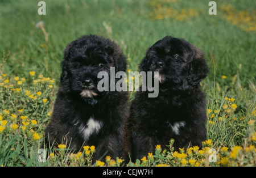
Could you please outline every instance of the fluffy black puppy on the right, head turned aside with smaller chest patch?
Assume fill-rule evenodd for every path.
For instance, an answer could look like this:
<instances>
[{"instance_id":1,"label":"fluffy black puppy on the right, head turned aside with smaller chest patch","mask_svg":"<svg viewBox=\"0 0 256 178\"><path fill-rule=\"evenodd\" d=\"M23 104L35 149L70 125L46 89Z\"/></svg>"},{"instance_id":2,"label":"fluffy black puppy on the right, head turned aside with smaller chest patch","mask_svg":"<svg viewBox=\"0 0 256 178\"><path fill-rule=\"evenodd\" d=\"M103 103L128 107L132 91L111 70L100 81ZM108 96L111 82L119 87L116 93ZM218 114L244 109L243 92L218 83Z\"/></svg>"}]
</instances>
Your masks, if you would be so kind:
<instances>
[{"instance_id":1,"label":"fluffy black puppy on the right, head turned aside with smaller chest patch","mask_svg":"<svg viewBox=\"0 0 256 178\"><path fill-rule=\"evenodd\" d=\"M125 150L141 159L175 139L175 150L200 146L207 138L205 94L200 81L207 76L203 52L187 41L167 36L148 48L141 71L159 71L159 95L139 91L130 107ZM154 73L153 73L154 74Z\"/></svg>"}]
</instances>

